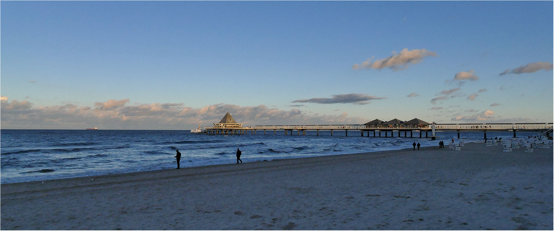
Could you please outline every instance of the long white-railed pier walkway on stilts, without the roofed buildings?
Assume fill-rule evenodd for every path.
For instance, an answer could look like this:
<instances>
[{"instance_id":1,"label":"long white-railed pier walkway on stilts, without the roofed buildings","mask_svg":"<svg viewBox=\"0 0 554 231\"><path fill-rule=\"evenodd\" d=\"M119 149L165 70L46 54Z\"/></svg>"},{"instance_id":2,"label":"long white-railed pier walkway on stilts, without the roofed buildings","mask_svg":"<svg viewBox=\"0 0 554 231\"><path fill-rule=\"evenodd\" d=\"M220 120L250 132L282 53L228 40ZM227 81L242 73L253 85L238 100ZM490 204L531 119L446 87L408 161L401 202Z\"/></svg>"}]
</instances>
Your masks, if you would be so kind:
<instances>
[{"instance_id":1,"label":"long white-railed pier walkway on stilts, without the roofed buildings","mask_svg":"<svg viewBox=\"0 0 554 231\"><path fill-rule=\"evenodd\" d=\"M333 130L344 130L346 136L348 136L348 130L358 130L361 136L363 133L367 133L367 137L370 136L370 132L373 132L373 137L381 137L384 132L384 137L401 137L401 133L404 132L404 137L413 137L413 133L419 135L422 138L422 134L425 133L425 138L435 137L436 131L457 131L458 138L460 138L460 132L463 131L483 131L484 137L486 132L542 132L548 136L552 132L552 123L471 123L471 124L428 124L428 125L363 125L363 124L343 124L343 125L255 125L254 127L242 127L242 128L215 128L204 127L207 134L257 134L258 130L263 130L263 134L266 134L266 130L273 130L273 134L277 134L277 130L284 131L285 135L293 134L296 130L297 135L306 135L306 130L315 130L319 135L320 130L330 130L333 135ZM261 132L261 131L260 131ZM429 132L431 135L429 136ZM419 134L417 134L419 133Z\"/></svg>"}]
</instances>

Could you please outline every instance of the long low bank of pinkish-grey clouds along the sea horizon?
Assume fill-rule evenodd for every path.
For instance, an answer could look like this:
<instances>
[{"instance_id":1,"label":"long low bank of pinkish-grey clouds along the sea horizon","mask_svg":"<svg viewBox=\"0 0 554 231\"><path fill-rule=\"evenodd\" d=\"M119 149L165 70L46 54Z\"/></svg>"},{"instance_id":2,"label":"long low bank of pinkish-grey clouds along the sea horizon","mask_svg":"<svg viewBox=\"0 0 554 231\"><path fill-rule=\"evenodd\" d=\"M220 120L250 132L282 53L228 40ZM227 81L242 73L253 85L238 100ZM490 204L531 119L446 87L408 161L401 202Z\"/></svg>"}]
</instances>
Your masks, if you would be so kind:
<instances>
[{"instance_id":1,"label":"long low bank of pinkish-grey clouds along the sea horizon","mask_svg":"<svg viewBox=\"0 0 554 231\"><path fill-rule=\"evenodd\" d=\"M8 102L0 97L2 128L19 129L191 129L198 124L217 123L229 112L239 123L263 124L362 124L367 119L317 114L291 109L289 111L259 106L212 104L202 108L186 107L182 103L152 103L125 106L129 99L95 102L95 108L74 104L35 107L28 101Z\"/></svg>"}]
</instances>

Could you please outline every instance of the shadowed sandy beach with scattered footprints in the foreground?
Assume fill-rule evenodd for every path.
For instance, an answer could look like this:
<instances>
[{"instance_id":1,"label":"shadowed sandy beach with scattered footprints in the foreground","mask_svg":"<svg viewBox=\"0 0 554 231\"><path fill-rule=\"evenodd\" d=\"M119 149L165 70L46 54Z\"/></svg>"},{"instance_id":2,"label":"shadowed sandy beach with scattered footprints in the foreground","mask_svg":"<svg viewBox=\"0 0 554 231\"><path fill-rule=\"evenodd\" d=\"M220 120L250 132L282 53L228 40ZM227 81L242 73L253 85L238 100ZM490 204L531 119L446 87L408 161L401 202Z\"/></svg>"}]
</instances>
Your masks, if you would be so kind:
<instances>
[{"instance_id":1,"label":"shadowed sandy beach with scattered footprints in the foreground","mask_svg":"<svg viewBox=\"0 0 554 231\"><path fill-rule=\"evenodd\" d=\"M470 143L9 183L0 228L552 230L553 150Z\"/></svg>"}]
</instances>

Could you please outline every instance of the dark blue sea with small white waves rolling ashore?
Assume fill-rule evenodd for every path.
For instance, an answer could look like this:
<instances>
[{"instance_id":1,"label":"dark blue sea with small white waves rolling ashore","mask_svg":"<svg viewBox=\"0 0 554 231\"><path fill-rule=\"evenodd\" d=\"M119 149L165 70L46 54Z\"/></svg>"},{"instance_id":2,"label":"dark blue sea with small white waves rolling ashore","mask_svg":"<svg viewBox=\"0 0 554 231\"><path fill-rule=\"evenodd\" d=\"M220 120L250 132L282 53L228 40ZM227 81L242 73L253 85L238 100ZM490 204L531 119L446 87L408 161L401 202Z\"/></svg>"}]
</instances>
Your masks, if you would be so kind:
<instances>
[{"instance_id":1,"label":"dark blue sea with small white waves rolling ashore","mask_svg":"<svg viewBox=\"0 0 554 231\"><path fill-rule=\"evenodd\" d=\"M243 162L310 156L365 153L412 148L412 143L438 146L440 140L458 140L456 132L437 132L439 138L361 137L359 130L308 130L306 135L284 134L278 130L258 130L258 134L208 135L189 130L0 130L0 183L53 180L78 176L98 176L177 167L176 150L181 152L181 167L235 164L236 151ZM397 133L394 133L398 136ZM430 135L430 133L429 133ZM518 137L540 135L518 132ZM488 132L489 138L511 138L512 132ZM460 132L466 143L484 141L483 132Z\"/></svg>"}]
</instances>

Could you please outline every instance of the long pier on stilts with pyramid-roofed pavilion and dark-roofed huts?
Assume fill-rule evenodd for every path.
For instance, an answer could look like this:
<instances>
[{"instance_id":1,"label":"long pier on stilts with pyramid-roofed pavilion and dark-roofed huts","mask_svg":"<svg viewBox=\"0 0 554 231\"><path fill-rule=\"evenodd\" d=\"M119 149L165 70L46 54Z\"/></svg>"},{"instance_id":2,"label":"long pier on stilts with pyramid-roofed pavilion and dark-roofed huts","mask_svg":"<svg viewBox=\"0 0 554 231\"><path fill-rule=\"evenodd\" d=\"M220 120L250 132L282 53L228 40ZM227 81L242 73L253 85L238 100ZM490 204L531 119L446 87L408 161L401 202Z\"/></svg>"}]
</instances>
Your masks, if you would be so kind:
<instances>
[{"instance_id":1,"label":"long pier on stilts with pyramid-roofed pavilion and dark-roofed huts","mask_svg":"<svg viewBox=\"0 0 554 231\"><path fill-rule=\"evenodd\" d=\"M541 132L545 133L547 137L552 133L553 123L464 123L464 124L438 124L427 123L423 120L414 118L412 120L403 122L402 120L392 119L387 122L375 119L366 124L340 124L340 125L255 125L254 127L242 127L242 124L235 122L233 117L229 113L225 114L222 120L213 124L213 127L204 127L206 134L217 135L239 135L239 134L258 134L263 131L271 132L276 135L279 130L281 134L293 135L296 131L296 135L306 135L307 130L315 130L316 135L319 135L320 130L329 130L333 135L334 130L345 131L345 136L348 136L348 130L357 132L363 137L364 133L367 137L416 137L431 138L434 140L437 135L435 132L458 132L458 138L460 138L460 132L476 132L482 131L484 138L486 138L486 132L514 132L514 138L517 132ZM409 136L408 136L409 135Z\"/></svg>"}]
</instances>

